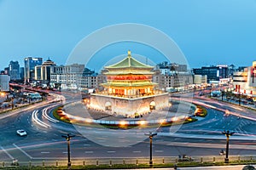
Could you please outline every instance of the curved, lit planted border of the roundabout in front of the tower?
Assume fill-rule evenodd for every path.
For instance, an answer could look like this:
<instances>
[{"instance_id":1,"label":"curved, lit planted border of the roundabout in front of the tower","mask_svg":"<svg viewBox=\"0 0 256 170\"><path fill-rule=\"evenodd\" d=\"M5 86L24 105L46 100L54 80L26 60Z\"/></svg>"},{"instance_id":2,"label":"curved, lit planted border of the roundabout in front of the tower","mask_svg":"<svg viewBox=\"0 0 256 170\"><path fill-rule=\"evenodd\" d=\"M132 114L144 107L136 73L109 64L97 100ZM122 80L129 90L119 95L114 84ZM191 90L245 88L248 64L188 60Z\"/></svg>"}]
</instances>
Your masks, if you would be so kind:
<instances>
[{"instance_id":1,"label":"curved, lit planted border of the roundabout in front of the tower","mask_svg":"<svg viewBox=\"0 0 256 170\"><path fill-rule=\"evenodd\" d=\"M104 119L99 117L101 115ZM170 118L150 119L137 117L133 119L124 119L122 117L111 116L107 113L92 111L90 117L73 116L63 109L63 105L53 111L55 119L61 122L67 122L86 127L107 127L110 129L131 129L131 128L148 128L148 127L170 127L183 123L195 122L197 119L191 116L174 116ZM96 117L93 119L92 117Z\"/></svg>"}]
</instances>

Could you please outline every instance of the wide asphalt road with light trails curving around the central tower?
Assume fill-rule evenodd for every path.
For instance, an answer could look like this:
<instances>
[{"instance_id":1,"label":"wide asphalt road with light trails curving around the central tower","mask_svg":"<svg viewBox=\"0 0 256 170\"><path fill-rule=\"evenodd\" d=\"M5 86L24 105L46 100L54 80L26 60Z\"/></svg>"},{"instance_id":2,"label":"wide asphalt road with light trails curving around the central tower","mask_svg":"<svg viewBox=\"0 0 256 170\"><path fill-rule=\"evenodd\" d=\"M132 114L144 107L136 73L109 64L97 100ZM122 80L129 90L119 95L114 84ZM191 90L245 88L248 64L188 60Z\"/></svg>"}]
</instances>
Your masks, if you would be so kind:
<instances>
[{"instance_id":1,"label":"wide asphalt road with light trails curving around the central tower","mask_svg":"<svg viewBox=\"0 0 256 170\"><path fill-rule=\"evenodd\" d=\"M73 96L67 96L67 102L75 100L77 99ZM195 99L195 101L224 109L224 111L229 110L232 114L224 116L223 111L207 107L207 117L197 122L183 124L177 133L170 134L170 127L158 129L158 135L153 139L153 156L218 156L219 150L225 148L225 137L221 134L224 129L236 133L230 137L230 155L255 153L256 143L253 129L256 123L253 120L253 111L211 99ZM136 138L132 139L129 136L119 136L113 139L110 135L115 132L113 129L106 131L106 128L80 127L80 130L88 133L86 135L96 134L96 140L103 143L115 141L118 145L118 143L124 143L125 140L135 141L135 144L125 147L109 147L108 144L102 146L88 139L89 136L82 135L80 130L78 132L78 127L52 120L52 110L56 105L60 104L36 106L1 119L1 161L10 161L14 158L19 161L66 160L67 143L61 138L61 135L66 133L76 135L71 139L73 159L149 156L149 141L143 135L145 132L138 133ZM239 118L237 114L240 115ZM15 131L20 128L26 129L28 133L26 137L16 135Z\"/></svg>"}]
</instances>

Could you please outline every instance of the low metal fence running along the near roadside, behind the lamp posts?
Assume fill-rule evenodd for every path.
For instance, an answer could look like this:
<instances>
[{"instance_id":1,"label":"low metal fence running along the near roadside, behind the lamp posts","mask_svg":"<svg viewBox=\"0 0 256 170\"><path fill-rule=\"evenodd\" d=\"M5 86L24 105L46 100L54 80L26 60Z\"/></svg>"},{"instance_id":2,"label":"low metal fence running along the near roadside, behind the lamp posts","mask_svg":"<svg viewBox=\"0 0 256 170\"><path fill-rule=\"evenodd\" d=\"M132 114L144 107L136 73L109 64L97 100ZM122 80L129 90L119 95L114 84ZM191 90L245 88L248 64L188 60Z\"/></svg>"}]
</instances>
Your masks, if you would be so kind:
<instances>
[{"instance_id":1,"label":"low metal fence running along the near roadside, behind the lamp posts","mask_svg":"<svg viewBox=\"0 0 256 170\"><path fill-rule=\"evenodd\" d=\"M224 162L225 156L191 156L185 157L185 159L179 159L178 157L154 157L154 164L167 164L167 163L177 163L181 161L191 161L191 162ZM256 155L243 155L243 156L229 156L230 161L256 161ZM138 158L84 158L84 159L72 159L73 166L100 166L100 165L139 165L148 164L148 157L138 157ZM67 166L67 160L44 160L44 161L18 161L18 164L14 165L12 161L0 161L0 167L10 167L10 166L26 166L26 167L58 167Z\"/></svg>"}]
</instances>

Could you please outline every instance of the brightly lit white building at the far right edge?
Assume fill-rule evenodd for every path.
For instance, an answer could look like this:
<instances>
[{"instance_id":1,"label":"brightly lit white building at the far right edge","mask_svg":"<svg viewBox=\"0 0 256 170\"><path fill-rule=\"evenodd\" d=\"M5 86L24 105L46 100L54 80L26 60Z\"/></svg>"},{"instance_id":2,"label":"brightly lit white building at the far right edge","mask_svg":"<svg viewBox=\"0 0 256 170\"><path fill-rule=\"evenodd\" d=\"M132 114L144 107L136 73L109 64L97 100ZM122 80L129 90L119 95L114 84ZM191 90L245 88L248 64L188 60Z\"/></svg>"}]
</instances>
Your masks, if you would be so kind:
<instances>
[{"instance_id":1,"label":"brightly lit white building at the far right edge","mask_svg":"<svg viewBox=\"0 0 256 170\"><path fill-rule=\"evenodd\" d=\"M256 97L256 61L249 67L240 67L232 78L235 94Z\"/></svg>"}]
</instances>

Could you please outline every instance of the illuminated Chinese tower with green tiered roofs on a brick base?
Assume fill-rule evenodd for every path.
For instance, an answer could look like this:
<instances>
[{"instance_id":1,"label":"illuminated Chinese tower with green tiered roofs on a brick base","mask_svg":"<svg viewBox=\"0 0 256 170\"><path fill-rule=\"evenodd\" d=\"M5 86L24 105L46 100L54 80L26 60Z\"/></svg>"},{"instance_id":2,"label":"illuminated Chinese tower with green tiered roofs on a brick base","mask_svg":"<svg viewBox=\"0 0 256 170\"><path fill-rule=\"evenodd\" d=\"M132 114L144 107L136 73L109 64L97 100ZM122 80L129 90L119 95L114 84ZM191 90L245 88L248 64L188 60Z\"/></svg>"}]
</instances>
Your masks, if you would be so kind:
<instances>
[{"instance_id":1,"label":"illuminated Chinese tower with green tiered roofs on a brick base","mask_svg":"<svg viewBox=\"0 0 256 170\"><path fill-rule=\"evenodd\" d=\"M102 91L91 94L87 106L92 110L131 117L167 107L168 94L156 90L157 83L152 82L153 68L132 58L128 51L125 59L105 67L107 71L103 74L107 82L101 84Z\"/></svg>"}]
</instances>

